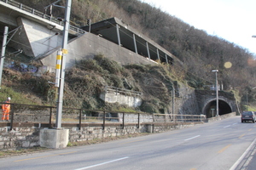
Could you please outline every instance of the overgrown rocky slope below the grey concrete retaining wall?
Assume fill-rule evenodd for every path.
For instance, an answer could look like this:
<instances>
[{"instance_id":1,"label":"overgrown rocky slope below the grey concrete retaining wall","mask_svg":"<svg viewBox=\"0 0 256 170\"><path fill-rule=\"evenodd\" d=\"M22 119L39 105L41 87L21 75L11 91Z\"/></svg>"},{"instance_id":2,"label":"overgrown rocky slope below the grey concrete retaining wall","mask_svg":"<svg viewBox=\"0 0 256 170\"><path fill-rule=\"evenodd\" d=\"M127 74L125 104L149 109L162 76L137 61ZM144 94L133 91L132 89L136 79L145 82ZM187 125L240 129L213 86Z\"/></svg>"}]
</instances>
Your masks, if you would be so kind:
<instances>
[{"instance_id":1,"label":"overgrown rocky slope below the grey concrete retaining wall","mask_svg":"<svg viewBox=\"0 0 256 170\"><path fill-rule=\"evenodd\" d=\"M169 69L167 65L122 66L102 55L82 60L79 65L67 71L63 105L108 111L163 113L172 101L170 94L176 83L175 75ZM3 85L6 88L2 89L1 95L10 95L15 103L55 105L55 88L49 83L54 79L55 74L46 73L42 77L34 77L31 73L4 69ZM142 92L143 105L129 108L119 104L105 104L100 94L107 85ZM9 88L14 91L8 91Z\"/></svg>"}]
</instances>

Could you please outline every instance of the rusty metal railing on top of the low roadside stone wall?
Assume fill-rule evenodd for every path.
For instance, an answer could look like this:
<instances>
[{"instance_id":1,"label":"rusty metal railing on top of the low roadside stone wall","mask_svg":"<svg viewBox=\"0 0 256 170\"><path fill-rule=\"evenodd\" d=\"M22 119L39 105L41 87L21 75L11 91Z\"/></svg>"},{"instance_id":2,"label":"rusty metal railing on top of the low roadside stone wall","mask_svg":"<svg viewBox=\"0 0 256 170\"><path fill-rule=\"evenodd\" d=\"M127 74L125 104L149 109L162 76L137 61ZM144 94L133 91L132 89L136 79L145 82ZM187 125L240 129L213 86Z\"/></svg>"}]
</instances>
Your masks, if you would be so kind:
<instances>
[{"instance_id":1,"label":"rusty metal railing on top of the low roadside stone wall","mask_svg":"<svg viewBox=\"0 0 256 170\"><path fill-rule=\"evenodd\" d=\"M3 105L4 103L0 103ZM44 127L55 127L56 123L56 107L45 105L23 105L10 103L11 111L9 116L10 130L20 126L20 123L32 122L40 123ZM137 124L137 128L141 123L154 122L206 122L204 115L174 115L174 114L151 114L145 112L121 112L121 111L102 111L102 110L86 110L77 108L62 108L61 123L77 124L81 129L83 124L101 124L102 129L106 124L111 123L120 127L125 124Z\"/></svg>"}]
</instances>

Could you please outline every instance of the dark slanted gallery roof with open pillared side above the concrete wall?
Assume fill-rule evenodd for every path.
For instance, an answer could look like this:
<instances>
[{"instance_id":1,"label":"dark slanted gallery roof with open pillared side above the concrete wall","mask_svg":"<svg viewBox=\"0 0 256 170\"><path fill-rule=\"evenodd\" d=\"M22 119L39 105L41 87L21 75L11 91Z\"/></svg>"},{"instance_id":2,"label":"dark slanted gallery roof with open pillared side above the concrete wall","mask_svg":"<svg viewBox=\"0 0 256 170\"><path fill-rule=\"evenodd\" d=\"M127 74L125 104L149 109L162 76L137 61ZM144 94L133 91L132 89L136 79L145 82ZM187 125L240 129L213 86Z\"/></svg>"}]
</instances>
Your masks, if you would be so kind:
<instances>
[{"instance_id":1,"label":"dark slanted gallery roof with open pillared side above the concrete wall","mask_svg":"<svg viewBox=\"0 0 256 170\"><path fill-rule=\"evenodd\" d=\"M174 62L174 55L118 18L113 17L108 20L102 20L91 24L90 26L84 26L82 29L108 39L110 42L117 43L120 46L128 48L135 53L137 52L137 54L148 57L149 59L157 60L159 53L161 62L166 62L166 59L169 64Z\"/></svg>"}]
</instances>

